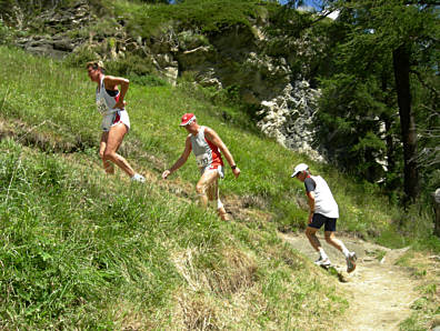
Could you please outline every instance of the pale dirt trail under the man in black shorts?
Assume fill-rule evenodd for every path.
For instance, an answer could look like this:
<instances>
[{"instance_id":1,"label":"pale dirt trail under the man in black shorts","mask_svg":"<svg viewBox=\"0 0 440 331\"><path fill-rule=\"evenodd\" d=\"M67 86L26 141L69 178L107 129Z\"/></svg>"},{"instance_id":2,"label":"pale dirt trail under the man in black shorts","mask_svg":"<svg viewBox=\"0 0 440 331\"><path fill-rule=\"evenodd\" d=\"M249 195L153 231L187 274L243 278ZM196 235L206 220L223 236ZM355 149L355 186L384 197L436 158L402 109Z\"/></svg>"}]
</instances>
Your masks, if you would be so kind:
<instances>
[{"instance_id":1,"label":"pale dirt trail under the man in black shorts","mask_svg":"<svg viewBox=\"0 0 440 331\"><path fill-rule=\"evenodd\" d=\"M318 258L306 235L280 237L310 260ZM406 249L391 250L338 235L358 255L357 269L348 274L342 253L321 238L321 244L342 278L341 287L349 293L350 308L337 330L399 330L399 323L410 315L410 305L418 298L416 280L404 268L394 265Z\"/></svg>"}]
</instances>

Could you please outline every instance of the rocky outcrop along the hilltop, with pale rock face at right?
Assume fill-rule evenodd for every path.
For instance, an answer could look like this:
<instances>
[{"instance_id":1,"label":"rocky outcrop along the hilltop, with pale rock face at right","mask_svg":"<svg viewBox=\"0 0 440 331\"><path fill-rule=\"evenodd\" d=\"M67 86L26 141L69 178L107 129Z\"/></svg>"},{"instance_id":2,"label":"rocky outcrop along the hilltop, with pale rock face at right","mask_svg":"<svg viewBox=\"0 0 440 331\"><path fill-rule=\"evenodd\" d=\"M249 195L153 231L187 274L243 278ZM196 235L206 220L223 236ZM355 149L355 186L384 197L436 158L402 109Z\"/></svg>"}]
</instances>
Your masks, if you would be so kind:
<instances>
[{"instance_id":1,"label":"rocky outcrop along the hilltop, with pale rock face at right","mask_svg":"<svg viewBox=\"0 0 440 331\"><path fill-rule=\"evenodd\" d=\"M319 91L302 78L310 71L308 61L302 61L300 69L292 64L297 58L313 58L311 47L317 47L316 41L309 38L288 41L281 36L283 57L268 52L273 39L266 37L264 21L254 20L252 27L232 26L210 34L197 29L179 31L169 23L160 33L143 39L130 34L122 20L112 18L106 18L110 28L94 32L93 24L99 22L88 1L63 10L50 8L27 22L26 29L40 28L42 33L28 33L17 44L54 58L128 59L130 64L136 60L141 63L134 68L136 73L153 72L172 84L178 77L190 74L206 87L238 86L241 99L260 109L258 127L262 132L288 149L322 160L311 143ZM83 29L87 26L89 29ZM144 72L139 72L141 67Z\"/></svg>"}]
</instances>

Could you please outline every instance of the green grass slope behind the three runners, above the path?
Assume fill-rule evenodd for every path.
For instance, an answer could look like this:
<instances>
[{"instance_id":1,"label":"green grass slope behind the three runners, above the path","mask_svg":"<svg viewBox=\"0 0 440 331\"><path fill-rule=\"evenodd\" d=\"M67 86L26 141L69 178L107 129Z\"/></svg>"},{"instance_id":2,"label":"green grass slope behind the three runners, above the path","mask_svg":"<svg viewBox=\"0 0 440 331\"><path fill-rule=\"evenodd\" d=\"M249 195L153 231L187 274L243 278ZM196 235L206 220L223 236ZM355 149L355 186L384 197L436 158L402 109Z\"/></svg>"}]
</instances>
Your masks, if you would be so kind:
<instances>
[{"instance_id":1,"label":"green grass slope behind the three runners, above the path","mask_svg":"<svg viewBox=\"0 0 440 331\"><path fill-rule=\"evenodd\" d=\"M0 59L3 63L0 89L6 91L0 107L4 118L26 122L27 130L38 127L36 131L51 141L48 144L58 143L61 150L91 151L97 148L100 116L93 104L96 84L90 82L86 70L7 48L0 48ZM220 134L242 170L240 179L233 180L227 167L227 180L221 183L222 194L263 201L257 207L272 212L280 229L303 228L307 219L307 209L301 207L304 204L301 203L303 185L291 179L290 173L294 164L307 162L313 173L320 173L328 180L339 202L340 230L363 237L396 233L392 227L403 215L374 185L357 183L307 156L288 151L273 140L256 134L254 130L237 120L239 112L231 111L229 106L213 106L209 97L203 96L188 83L178 88L131 84L127 101L132 129L122 153L130 151L128 157L134 167L150 169L160 178L160 172L170 167L183 150L187 133L178 124L181 114L191 111L197 114L199 123L213 128ZM224 117L224 113L232 113L232 117ZM152 159L156 160L153 164ZM198 171L193 157L188 163L174 179L196 182ZM410 223L419 224L416 229L429 228L427 215L412 214ZM407 232L408 238L413 234L413 231ZM400 234L393 237L397 239Z\"/></svg>"}]
</instances>

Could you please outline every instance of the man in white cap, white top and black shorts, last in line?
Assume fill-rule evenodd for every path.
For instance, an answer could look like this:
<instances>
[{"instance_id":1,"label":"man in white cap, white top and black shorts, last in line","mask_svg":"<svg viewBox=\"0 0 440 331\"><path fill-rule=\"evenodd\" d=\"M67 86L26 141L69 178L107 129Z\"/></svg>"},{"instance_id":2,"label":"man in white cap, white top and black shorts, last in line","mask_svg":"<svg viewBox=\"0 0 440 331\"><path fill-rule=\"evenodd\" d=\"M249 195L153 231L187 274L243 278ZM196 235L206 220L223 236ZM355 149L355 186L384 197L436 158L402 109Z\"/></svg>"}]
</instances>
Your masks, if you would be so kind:
<instances>
[{"instance_id":1,"label":"man in white cap, white top and black shorts, last in line","mask_svg":"<svg viewBox=\"0 0 440 331\"><path fill-rule=\"evenodd\" d=\"M347 272L352 272L356 269L356 252L350 252L343 242L334 235L336 223L339 218L339 208L326 180L320 175L312 175L309 165L304 163L294 167L292 177L303 182L306 187L306 194L310 207L309 224L306 229L306 235L311 245L319 253L319 259L314 263L323 267L329 267L331 264L330 259L327 257L316 234L324 224L326 241L344 254Z\"/></svg>"}]
</instances>

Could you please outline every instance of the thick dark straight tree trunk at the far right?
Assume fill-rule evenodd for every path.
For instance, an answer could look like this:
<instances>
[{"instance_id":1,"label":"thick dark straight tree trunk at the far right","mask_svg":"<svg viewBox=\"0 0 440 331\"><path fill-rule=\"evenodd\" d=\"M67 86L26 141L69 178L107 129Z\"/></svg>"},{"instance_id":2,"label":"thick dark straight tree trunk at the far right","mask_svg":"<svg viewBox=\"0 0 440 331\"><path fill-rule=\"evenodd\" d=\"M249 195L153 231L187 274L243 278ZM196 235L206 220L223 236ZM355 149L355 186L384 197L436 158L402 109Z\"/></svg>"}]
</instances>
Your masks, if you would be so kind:
<instances>
[{"instance_id":1,"label":"thick dark straight tree trunk at the far right","mask_svg":"<svg viewBox=\"0 0 440 331\"><path fill-rule=\"evenodd\" d=\"M404 203L413 202L419 195L419 174L417 171L417 132L411 110L410 51L403 44L392 52L400 128L403 142L403 187Z\"/></svg>"}]
</instances>

